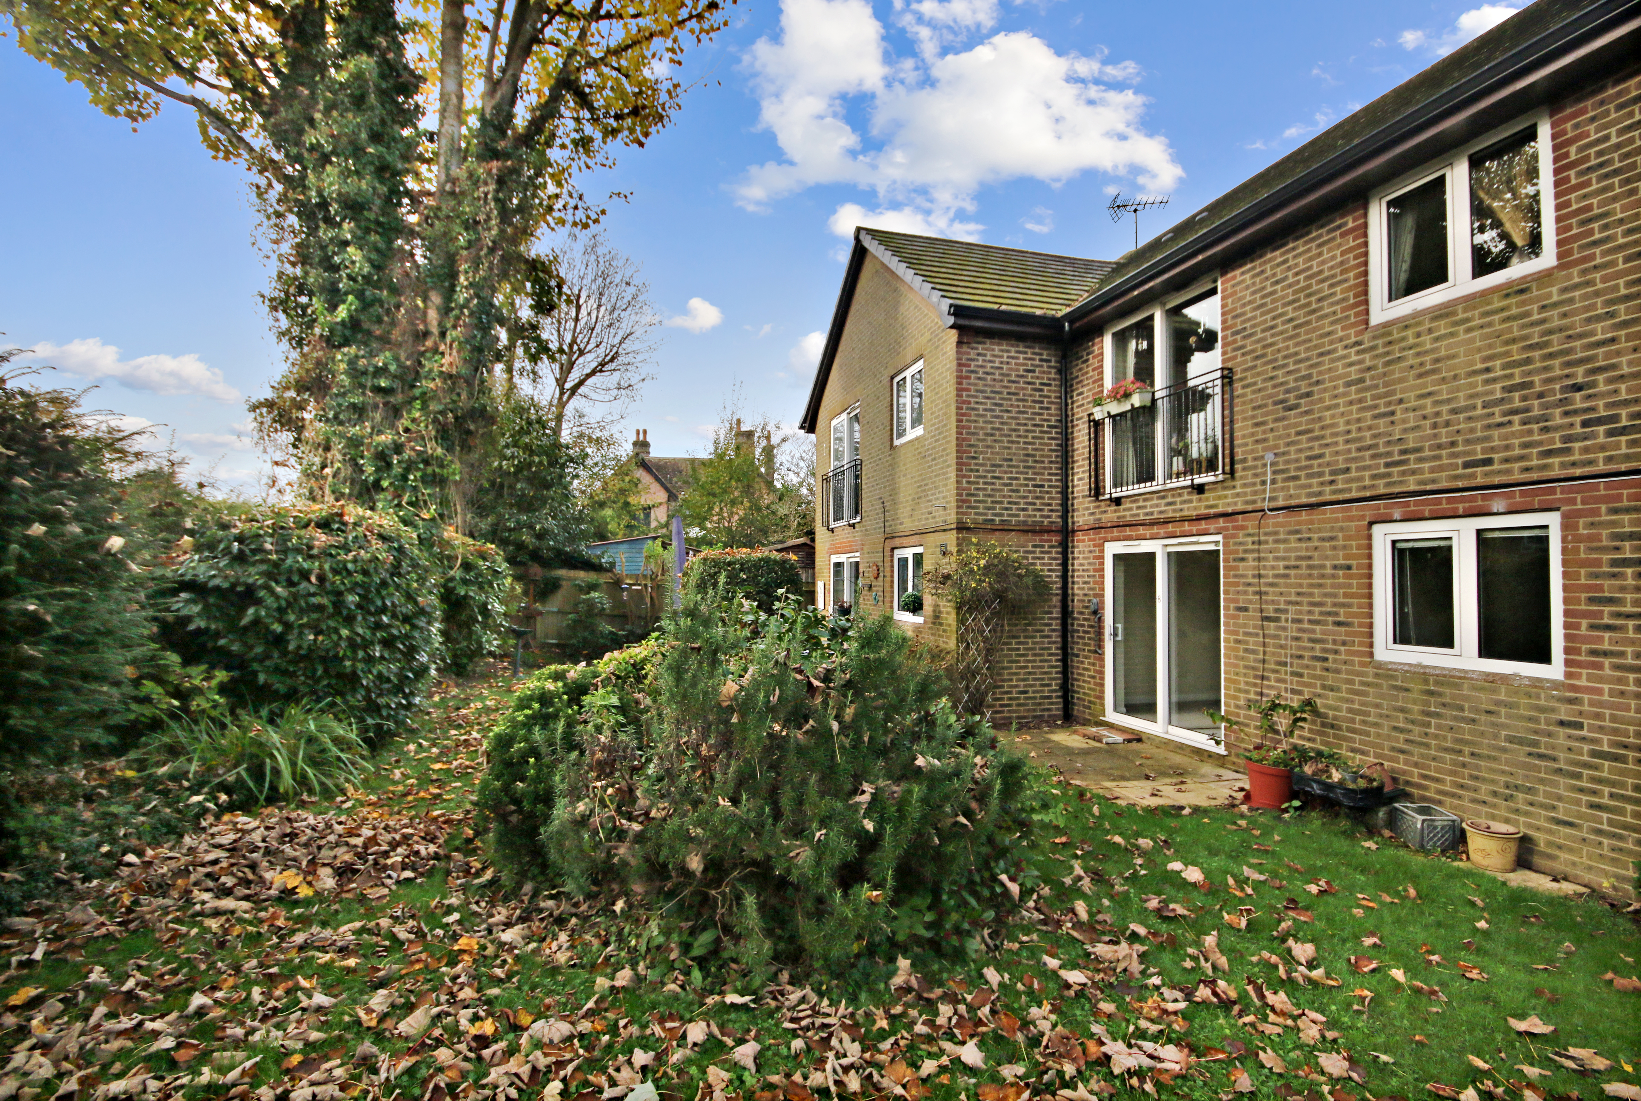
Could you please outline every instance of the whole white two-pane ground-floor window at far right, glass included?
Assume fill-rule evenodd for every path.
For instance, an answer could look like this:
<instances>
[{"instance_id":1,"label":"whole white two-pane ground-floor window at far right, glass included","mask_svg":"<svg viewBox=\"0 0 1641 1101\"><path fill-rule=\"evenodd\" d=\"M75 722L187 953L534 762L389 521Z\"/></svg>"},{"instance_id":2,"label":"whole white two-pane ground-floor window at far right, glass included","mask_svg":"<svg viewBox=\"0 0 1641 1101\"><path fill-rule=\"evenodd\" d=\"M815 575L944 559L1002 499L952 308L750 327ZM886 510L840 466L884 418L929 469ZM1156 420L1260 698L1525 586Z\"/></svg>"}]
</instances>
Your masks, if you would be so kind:
<instances>
[{"instance_id":1,"label":"whole white two-pane ground-floor window at far right, glass included","mask_svg":"<svg viewBox=\"0 0 1641 1101\"><path fill-rule=\"evenodd\" d=\"M1561 515L1374 525L1374 656L1561 679Z\"/></svg>"}]
</instances>

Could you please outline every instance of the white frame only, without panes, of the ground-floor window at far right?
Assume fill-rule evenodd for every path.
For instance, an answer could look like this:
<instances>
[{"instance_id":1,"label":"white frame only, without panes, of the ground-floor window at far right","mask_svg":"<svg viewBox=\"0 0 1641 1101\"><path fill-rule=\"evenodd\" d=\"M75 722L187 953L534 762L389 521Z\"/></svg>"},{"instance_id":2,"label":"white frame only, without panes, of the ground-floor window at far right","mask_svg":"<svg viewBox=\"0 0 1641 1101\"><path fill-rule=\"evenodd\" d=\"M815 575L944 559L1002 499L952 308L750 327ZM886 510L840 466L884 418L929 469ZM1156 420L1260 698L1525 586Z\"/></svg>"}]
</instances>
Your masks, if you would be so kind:
<instances>
[{"instance_id":1,"label":"white frame only, without panes, of the ground-floor window at far right","mask_svg":"<svg viewBox=\"0 0 1641 1101\"><path fill-rule=\"evenodd\" d=\"M1498 661L1482 658L1480 609L1477 607L1475 540L1482 528L1547 527L1549 528L1549 665L1529 661ZM1408 646L1395 643L1395 601L1392 599L1393 538L1408 535L1454 537L1454 640L1452 650ZM1500 512L1479 517L1447 517L1441 520L1401 520L1374 525L1374 658L1403 665L1433 665L1447 669L1477 673L1508 673L1566 679L1566 620L1561 576L1561 514L1559 512Z\"/></svg>"}]
</instances>

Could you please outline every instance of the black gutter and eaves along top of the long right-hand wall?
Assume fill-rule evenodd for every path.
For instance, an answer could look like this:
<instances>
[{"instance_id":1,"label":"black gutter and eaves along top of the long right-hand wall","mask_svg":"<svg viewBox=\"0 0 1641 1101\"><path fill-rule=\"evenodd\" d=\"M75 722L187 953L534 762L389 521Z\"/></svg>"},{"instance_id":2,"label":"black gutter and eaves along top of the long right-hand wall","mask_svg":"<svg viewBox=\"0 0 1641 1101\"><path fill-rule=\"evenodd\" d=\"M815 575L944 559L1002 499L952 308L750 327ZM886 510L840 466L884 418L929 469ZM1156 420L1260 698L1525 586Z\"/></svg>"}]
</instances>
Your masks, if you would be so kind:
<instances>
[{"instance_id":1,"label":"black gutter and eaves along top of the long right-hand wall","mask_svg":"<svg viewBox=\"0 0 1641 1101\"><path fill-rule=\"evenodd\" d=\"M1099 320L1114 304L1134 295L1139 289L1163 281L1178 269L1190 269L1185 276L1195 277L1201 271L1213 267L1218 258L1209 254L1223 251L1221 246L1229 240L1244 238L1241 244L1247 246L1249 241L1246 238L1255 233L1265 236L1267 231L1282 228L1287 222L1280 220L1280 215L1287 208L1296 207L1308 195L1319 192L1323 185L1339 180L1364 162L1380 162L1400 146L1416 143L1421 131L1446 121L1447 115L1459 105L1470 103L1475 108L1482 108L1497 98L1490 98L1490 92L1493 90L1526 90L1538 85L1543 82L1543 77L1534 74L1534 71L1566 71L1587 61L1592 54L1616 54L1621 57L1628 46L1625 39L1633 39L1641 31L1638 10L1641 10L1641 0L1610 0L1607 3L1593 3L1572 18L1546 28L1546 31L1521 43L1498 61L1447 85L1423 103L1396 115L1378 130L1352 141L1311 169L1226 213L1201 231L1183 238L1173 248L1159 253L1126 272L1121 271L1122 263L1119 261L1118 279L1095 287L1093 294L1063 315L1065 320L1073 327ZM1579 48L1580 41L1588 44L1590 49ZM1167 240L1177 230L1178 226L1173 226L1160 240ZM1191 261L1201 263L1191 264Z\"/></svg>"}]
</instances>

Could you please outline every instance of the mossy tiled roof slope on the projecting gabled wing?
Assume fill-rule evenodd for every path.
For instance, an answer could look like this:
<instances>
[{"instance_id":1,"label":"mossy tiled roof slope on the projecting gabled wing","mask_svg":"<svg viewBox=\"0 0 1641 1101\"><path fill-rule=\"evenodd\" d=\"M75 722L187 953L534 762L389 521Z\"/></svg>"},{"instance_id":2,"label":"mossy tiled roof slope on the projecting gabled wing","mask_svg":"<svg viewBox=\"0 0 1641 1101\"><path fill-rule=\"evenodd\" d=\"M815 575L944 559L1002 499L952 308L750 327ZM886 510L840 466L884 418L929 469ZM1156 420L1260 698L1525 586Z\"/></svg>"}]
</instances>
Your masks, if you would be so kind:
<instances>
[{"instance_id":1,"label":"mossy tiled roof slope on the projecting gabled wing","mask_svg":"<svg viewBox=\"0 0 1641 1101\"><path fill-rule=\"evenodd\" d=\"M1111 261L1032 253L940 236L857 231L860 243L937 308L945 304L1058 317L1093 290ZM940 308L944 317L950 312Z\"/></svg>"}]
</instances>

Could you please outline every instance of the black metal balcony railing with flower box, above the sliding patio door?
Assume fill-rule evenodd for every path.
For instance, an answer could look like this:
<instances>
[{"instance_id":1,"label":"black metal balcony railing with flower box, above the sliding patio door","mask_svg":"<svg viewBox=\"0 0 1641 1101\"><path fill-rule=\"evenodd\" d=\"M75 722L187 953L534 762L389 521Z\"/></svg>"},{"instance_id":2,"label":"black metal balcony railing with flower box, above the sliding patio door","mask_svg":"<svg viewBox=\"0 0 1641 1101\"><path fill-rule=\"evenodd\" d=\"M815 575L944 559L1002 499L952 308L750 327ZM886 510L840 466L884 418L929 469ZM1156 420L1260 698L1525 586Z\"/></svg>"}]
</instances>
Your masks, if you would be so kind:
<instances>
[{"instance_id":1,"label":"black metal balcony railing with flower box, above the sliding patio door","mask_svg":"<svg viewBox=\"0 0 1641 1101\"><path fill-rule=\"evenodd\" d=\"M1150 405L1088 417L1088 496L1195 486L1231 474L1231 372L1155 391Z\"/></svg>"}]
</instances>

